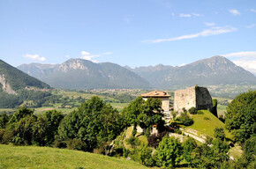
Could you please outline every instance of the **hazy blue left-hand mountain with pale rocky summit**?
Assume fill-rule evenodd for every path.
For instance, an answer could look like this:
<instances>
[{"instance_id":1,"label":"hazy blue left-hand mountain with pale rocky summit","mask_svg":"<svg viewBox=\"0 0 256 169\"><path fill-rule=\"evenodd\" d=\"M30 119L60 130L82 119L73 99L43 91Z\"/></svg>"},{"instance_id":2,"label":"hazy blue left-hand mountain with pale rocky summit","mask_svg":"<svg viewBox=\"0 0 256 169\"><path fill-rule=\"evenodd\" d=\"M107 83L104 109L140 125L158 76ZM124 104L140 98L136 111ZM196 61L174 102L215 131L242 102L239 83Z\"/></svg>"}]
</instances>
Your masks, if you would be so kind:
<instances>
[{"instance_id":1,"label":"hazy blue left-hand mountain with pale rocky summit","mask_svg":"<svg viewBox=\"0 0 256 169\"><path fill-rule=\"evenodd\" d=\"M22 64L19 70L56 88L150 88L150 84L131 70L111 62L94 63L70 59L62 64Z\"/></svg>"}]
</instances>

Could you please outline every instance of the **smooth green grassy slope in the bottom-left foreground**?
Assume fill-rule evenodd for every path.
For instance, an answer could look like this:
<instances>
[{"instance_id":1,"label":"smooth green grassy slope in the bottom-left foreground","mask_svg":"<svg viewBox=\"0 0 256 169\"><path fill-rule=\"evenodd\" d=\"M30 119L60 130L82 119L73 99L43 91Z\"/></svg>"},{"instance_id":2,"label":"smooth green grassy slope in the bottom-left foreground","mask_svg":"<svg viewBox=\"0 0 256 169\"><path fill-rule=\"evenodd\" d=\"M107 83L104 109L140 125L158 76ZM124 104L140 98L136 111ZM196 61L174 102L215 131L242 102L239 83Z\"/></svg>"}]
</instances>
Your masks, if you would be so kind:
<instances>
[{"instance_id":1,"label":"smooth green grassy slope in the bottom-left foreground","mask_svg":"<svg viewBox=\"0 0 256 169\"><path fill-rule=\"evenodd\" d=\"M147 168L124 158L83 151L0 144L0 168Z\"/></svg>"}]
</instances>

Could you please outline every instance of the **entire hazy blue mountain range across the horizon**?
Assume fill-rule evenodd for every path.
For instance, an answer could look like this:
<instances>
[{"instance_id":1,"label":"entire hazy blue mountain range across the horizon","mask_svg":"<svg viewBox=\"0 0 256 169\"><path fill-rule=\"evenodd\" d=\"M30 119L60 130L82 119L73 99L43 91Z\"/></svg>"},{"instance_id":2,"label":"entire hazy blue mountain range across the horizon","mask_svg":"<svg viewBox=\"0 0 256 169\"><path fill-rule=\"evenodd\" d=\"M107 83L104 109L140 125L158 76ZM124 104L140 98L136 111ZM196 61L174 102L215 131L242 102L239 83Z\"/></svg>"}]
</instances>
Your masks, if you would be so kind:
<instances>
[{"instance_id":1,"label":"entire hazy blue mountain range across the horizon","mask_svg":"<svg viewBox=\"0 0 256 169\"><path fill-rule=\"evenodd\" d=\"M181 67L156 66L131 69L111 62L70 59L62 64L22 64L19 70L56 88L157 88L213 84L256 84L256 77L222 56Z\"/></svg>"}]
</instances>

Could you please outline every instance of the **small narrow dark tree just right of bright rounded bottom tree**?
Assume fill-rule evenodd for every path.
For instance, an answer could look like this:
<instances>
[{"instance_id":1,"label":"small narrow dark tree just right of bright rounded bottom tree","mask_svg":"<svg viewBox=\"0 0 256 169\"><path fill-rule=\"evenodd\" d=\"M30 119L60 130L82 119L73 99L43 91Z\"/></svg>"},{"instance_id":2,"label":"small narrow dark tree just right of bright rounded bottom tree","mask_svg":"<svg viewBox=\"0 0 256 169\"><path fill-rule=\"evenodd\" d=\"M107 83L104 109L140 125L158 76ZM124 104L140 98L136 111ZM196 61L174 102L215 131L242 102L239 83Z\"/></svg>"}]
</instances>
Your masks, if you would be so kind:
<instances>
[{"instance_id":1,"label":"small narrow dark tree just right of bright rounded bottom tree","mask_svg":"<svg viewBox=\"0 0 256 169\"><path fill-rule=\"evenodd\" d=\"M197 147L197 143L194 139L189 137L182 145L183 145L183 158L191 165L192 151Z\"/></svg>"}]
</instances>

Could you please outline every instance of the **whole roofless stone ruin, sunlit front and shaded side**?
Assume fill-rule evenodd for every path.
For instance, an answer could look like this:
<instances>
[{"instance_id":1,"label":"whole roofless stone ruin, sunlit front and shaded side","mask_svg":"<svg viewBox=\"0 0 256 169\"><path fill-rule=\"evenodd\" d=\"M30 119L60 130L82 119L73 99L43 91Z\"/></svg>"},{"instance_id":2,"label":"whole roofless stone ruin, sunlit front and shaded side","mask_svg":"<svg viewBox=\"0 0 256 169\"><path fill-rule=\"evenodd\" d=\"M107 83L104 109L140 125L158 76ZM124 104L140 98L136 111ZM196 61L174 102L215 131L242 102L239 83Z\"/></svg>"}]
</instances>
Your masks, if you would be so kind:
<instances>
[{"instance_id":1,"label":"whole roofless stone ruin, sunlit front and shaded side","mask_svg":"<svg viewBox=\"0 0 256 169\"><path fill-rule=\"evenodd\" d=\"M184 90L178 90L174 94L174 111L183 112L183 108L189 110L195 107L198 110L212 112L213 102L206 87L193 86Z\"/></svg>"}]
</instances>

